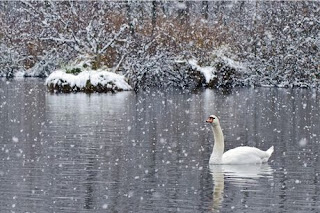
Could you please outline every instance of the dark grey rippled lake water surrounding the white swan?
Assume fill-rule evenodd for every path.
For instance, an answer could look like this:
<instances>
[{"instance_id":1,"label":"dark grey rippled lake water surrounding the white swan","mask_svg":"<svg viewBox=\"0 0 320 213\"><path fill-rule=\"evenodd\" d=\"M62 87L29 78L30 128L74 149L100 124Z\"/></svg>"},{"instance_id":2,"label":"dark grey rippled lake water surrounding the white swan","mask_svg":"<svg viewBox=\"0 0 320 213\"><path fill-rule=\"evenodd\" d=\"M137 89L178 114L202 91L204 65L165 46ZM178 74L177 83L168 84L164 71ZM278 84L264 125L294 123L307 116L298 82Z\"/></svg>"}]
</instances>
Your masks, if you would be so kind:
<instances>
[{"instance_id":1,"label":"dark grey rippled lake water surrounding the white swan","mask_svg":"<svg viewBox=\"0 0 320 213\"><path fill-rule=\"evenodd\" d=\"M0 80L0 212L320 212L319 93L50 94ZM226 149L267 149L262 166L208 166Z\"/></svg>"}]
</instances>

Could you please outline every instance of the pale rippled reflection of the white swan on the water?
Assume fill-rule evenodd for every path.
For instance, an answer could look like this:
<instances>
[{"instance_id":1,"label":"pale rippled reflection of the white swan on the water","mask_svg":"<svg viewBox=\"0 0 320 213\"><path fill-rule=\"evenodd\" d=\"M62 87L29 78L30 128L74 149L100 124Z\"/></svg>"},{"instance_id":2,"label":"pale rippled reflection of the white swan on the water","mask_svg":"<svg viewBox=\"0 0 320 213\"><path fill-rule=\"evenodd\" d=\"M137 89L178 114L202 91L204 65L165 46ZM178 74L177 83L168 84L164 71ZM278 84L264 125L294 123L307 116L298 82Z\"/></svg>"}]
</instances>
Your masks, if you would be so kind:
<instances>
[{"instance_id":1,"label":"pale rippled reflection of the white swan on the water","mask_svg":"<svg viewBox=\"0 0 320 213\"><path fill-rule=\"evenodd\" d=\"M258 184L260 178L273 178L273 170L268 164L252 165L210 165L210 172L214 183L213 212L219 212L222 205L224 182L238 186Z\"/></svg>"}]
</instances>

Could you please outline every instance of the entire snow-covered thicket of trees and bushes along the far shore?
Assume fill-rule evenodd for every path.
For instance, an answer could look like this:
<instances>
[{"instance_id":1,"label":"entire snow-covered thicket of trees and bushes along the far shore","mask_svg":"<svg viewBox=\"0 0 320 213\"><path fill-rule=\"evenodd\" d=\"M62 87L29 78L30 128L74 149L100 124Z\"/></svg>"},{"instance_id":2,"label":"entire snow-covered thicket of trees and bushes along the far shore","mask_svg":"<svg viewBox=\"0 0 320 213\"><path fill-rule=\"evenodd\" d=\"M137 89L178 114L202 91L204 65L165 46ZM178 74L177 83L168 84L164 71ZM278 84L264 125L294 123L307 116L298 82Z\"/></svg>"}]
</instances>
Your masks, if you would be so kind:
<instances>
[{"instance_id":1,"label":"entire snow-covered thicket of trees and bushes along the far shore","mask_svg":"<svg viewBox=\"0 0 320 213\"><path fill-rule=\"evenodd\" d=\"M93 69L112 67L135 88L320 88L316 1L22 0L0 1L0 10L2 76L46 76L90 55Z\"/></svg>"}]
</instances>

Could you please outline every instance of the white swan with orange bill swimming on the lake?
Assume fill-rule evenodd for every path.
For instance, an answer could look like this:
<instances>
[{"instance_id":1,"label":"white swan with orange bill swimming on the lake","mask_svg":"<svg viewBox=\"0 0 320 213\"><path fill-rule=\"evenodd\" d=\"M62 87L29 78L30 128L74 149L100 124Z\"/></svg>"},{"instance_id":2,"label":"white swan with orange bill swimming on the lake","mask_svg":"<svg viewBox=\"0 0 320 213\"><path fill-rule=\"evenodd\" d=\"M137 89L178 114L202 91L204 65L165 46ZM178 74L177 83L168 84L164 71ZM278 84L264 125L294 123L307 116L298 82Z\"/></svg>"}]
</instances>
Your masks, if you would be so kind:
<instances>
[{"instance_id":1,"label":"white swan with orange bill swimming on the lake","mask_svg":"<svg viewBox=\"0 0 320 213\"><path fill-rule=\"evenodd\" d=\"M267 151L255 147L240 146L224 152L224 136L217 116L210 115L206 121L213 130L214 146L209 164L261 164L269 160L274 151L271 146Z\"/></svg>"}]
</instances>

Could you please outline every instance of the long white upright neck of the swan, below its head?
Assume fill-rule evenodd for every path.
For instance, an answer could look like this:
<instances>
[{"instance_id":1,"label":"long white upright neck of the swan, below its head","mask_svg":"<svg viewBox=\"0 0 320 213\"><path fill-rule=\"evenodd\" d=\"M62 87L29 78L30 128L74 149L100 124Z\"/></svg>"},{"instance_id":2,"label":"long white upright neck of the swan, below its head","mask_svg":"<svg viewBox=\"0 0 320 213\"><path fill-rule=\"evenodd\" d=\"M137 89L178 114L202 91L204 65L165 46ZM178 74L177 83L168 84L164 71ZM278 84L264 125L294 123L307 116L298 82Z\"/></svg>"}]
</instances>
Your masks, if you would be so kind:
<instances>
[{"instance_id":1,"label":"long white upright neck of the swan, below its head","mask_svg":"<svg viewBox=\"0 0 320 213\"><path fill-rule=\"evenodd\" d=\"M221 163L222 155L224 152L224 137L223 137L223 133L220 125L212 126L212 130L213 130L214 145L213 145L213 151L210 157L210 161L212 163L219 164Z\"/></svg>"}]
</instances>

